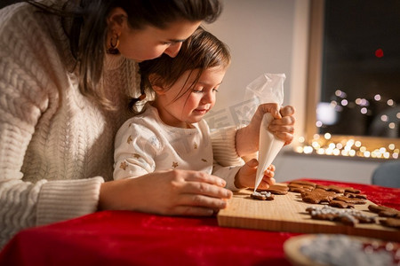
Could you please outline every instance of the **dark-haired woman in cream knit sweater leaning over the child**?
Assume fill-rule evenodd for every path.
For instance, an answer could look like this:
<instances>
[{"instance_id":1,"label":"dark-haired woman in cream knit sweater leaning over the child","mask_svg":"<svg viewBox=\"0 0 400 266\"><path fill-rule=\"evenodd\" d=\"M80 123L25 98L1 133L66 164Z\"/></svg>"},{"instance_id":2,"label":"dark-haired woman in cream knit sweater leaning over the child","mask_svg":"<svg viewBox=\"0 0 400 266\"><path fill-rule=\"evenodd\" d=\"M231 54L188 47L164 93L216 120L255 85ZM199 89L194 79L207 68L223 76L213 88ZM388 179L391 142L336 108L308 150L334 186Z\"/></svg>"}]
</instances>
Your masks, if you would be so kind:
<instances>
[{"instance_id":1,"label":"dark-haired woman in cream knit sweater leaning over the child","mask_svg":"<svg viewBox=\"0 0 400 266\"><path fill-rule=\"evenodd\" d=\"M0 11L0 245L25 227L101 209L212 215L226 207L225 182L201 172L111 181L116 130L131 115L127 99L140 94L137 62L174 57L202 21L218 18L220 2L55 3ZM265 112L280 118L276 106L261 106L248 127L217 132L215 154L232 164L257 151L247 140L258 139ZM292 108L281 113L272 130L290 143Z\"/></svg>"}]
</instances>

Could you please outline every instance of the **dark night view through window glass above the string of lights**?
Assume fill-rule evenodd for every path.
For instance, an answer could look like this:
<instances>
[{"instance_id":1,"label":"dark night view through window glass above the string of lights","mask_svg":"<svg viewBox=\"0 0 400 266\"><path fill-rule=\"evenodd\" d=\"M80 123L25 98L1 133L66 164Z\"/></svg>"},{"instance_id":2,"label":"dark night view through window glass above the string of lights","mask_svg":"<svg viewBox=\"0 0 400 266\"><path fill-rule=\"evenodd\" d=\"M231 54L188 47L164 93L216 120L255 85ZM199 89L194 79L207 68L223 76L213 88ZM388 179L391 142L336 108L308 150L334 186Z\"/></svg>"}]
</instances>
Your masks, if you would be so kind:
<instances>
[{"instance_id":1,"label":"dark night view through window glass above the string of lights","mask_svg":"<svg viewBox=\"0 0 400 266\"><path fill-rule=\"evenodd\" d=\"M339 121L320 133L399 137L400 117L400 1L327 0L324 11L324 57L321 102L340 102L336 90L346 92ZM375 55L376 51L383 51ZM380 94L381 100L374 100ZM356 98L369 101L360 112ZM388 106L388 99L395 104ZM389 121L380 121L387 114ZM395 129L388 123L395 122Z\"/></svg>"}]
</instances>

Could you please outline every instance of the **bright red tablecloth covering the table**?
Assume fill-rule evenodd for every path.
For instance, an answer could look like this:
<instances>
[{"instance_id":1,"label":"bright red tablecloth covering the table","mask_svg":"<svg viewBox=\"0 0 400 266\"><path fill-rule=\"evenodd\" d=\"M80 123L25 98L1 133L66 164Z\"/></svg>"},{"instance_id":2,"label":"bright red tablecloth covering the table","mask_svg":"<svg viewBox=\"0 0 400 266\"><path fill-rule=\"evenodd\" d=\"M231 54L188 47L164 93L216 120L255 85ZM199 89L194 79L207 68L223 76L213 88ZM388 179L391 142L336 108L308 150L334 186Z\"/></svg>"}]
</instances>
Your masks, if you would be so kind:
<instances>
[{"instance_id":1,"label":"bright red tablecloth covering the table","mask_svg":"<svg viewBox=\"0 0 400 266\"><path fill-rule=\"evenodd\" d=\"M352 186L369 200L400 209L400 189ZM286 239L299 235L218 226L191 218L103 211L20 231L0 253L0 265L290 265Z\"/></svg>"}]
</instances>

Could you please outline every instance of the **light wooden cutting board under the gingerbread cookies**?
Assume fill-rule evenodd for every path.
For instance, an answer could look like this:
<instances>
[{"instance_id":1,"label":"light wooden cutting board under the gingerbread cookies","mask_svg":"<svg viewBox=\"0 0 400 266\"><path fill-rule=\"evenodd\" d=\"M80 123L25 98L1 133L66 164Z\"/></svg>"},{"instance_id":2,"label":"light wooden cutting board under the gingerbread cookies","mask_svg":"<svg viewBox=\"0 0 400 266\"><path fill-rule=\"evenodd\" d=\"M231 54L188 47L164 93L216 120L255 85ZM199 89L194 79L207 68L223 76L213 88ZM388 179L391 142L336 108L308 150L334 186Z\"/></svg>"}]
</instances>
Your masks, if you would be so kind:
<instances>
[{"instance_id":1,"label":"light wooden cutting board under the gingerbread cookies","mask_svg":"<svg viewBox=\"0 0 400 266\"><path fill-rule=\"evenodd\" d=\"M253 200L251 190L235 192L228 201L228 207L217 215L218 224L226 227L238 227L267 231L289 231L299 233L342 233L375 239L400 241L400 230L376 224L356 224L349 226L339 222L311 219L307 207L323 207L322 204L310 204L301 200L300 193L288 192L275 195L274 200ZM356 209L365 215L377 216L368 210L374 204L367 200Z\"/></svg>"}]
</instances>

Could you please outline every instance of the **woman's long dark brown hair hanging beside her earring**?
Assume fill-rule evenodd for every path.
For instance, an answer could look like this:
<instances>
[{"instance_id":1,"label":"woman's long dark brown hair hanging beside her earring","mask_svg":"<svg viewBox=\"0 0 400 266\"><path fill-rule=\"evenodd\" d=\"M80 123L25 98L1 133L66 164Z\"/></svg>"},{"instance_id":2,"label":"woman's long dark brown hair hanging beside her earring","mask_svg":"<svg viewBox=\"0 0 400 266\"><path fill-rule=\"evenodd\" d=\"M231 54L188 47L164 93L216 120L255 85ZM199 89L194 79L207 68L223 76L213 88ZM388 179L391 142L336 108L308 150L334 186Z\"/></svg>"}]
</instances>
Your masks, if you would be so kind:
<instances>
[{"instance_id":1,"label":"woman's long dark brown hair hanging beside her earring","mask_svg":"<svg viewBox=\"0 0 400 266\"><path fill-rule=\"evenodd\" d=\"M40 10L61 17L69 37L70 50L79 66L79 90L84 96L96 98L112 110L104 91L97 89L103 70L108 33L107 17L111 9L121 7L128 14L128 24L134 29L153 26L164 29L178 20L211 23L220 16L220 0L69 0L62 9L28 3ZM73 20L66 27L68 19Z\"/></svg>"}]
</instances>

